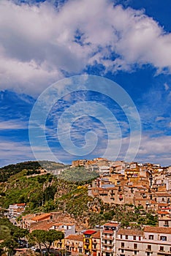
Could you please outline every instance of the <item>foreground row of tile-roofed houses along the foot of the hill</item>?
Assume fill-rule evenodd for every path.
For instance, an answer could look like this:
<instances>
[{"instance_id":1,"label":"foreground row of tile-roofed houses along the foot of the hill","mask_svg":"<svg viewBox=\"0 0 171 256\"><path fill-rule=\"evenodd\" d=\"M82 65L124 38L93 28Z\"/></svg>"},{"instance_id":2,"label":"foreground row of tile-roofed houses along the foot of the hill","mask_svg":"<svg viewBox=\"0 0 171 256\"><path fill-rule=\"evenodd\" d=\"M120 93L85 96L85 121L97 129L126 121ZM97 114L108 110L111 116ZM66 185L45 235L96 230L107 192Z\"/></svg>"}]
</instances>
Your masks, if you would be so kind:
<instances>
[{"instance_id":1,"label":"foreground row of tile-roofed houses along the foot of the hill","mask_svg":"<svg viewBox=\"0 0 171 256\"><path fill-rule=\"evenodd\" d=\"M21 226L30 232L37 229L64 232L64 239L55 241L53 247L66 249L72 255L171 255L171 227L145 226L143 230L130 230L122 229L118 222L108 222L78 231L74 222L56 222L54 213L27 215L22 217Z\"/></svg>"}]
</instances>

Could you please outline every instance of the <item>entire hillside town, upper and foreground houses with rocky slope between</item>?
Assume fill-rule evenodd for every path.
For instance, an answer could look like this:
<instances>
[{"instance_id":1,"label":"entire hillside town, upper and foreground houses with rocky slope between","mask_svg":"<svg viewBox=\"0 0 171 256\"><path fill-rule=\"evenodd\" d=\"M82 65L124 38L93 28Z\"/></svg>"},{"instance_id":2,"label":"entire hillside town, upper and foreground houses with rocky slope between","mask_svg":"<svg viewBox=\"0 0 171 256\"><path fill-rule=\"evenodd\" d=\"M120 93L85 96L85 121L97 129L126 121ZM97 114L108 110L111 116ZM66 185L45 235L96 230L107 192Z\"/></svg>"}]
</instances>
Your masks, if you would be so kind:
<instances>
[{"instance_id":1,"label":"entire hillside town, upper and foreground houses with rocky slope between","mask_svg":"<svg viewBox=\"0 0 171 256\"><path fill-rule=\"evenodd\" d=\"M37 208L32 207L29 193L28 202L24 197L20 203L15 198L16 202L2 211L2 219L7 217L29 234L35 230L63 233L64 238L52 243L52 249L56 250L51 252L53 255L61 252L93 256L171 255L171 166L104 158L80 159L72 161L69 169L67 166L73 173L79 168L98 175L88 182L76 182L75 187L63 180L59 187L47 170L38 171L38 168L32 174L31 170L25 171L25 182L40 182L44 176L40 184L46 196L47 189L50 191L56 186L58 189L45 204L39 199ZM21 179L23 181L23 176ZM13 182L11 187L7 181L4 182L6 190L1 190L4 200L7 187L16 189L16 183L10 182ZM9 200L9 194L6 199ZM51 208L47 208L47 203ZM26 246L15 249L16 255L39 255L41 252L36 252L36 246L35 243L31 249Z\"/></svg>"}]
</instances>

